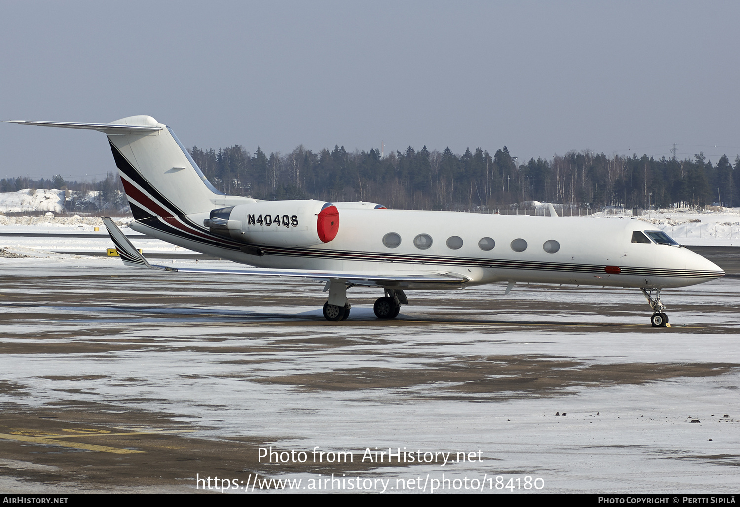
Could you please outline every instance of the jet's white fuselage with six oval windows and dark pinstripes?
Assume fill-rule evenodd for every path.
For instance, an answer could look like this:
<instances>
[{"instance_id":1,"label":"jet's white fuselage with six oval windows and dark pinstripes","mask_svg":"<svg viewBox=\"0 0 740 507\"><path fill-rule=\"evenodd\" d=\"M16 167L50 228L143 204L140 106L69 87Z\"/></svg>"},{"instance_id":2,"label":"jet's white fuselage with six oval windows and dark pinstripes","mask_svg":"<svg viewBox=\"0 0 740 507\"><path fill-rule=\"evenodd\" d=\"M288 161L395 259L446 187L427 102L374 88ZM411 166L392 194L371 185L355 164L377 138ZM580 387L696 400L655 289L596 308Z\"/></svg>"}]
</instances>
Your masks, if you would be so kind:
<instances>
[{"instance_id":1,"label":"jet's white fuselage with six oval windows and dark pinstripes","mask_svg":"<svg viewBox=\"0 0 740 507\"><path fill-rule=\"evenodd\" d=\"M633 243L634 231L656 230L636 219L337 206L341 221L332 241L301 247L257 245L264 253L261 256L244 252L233 241L209 244L168 234L140 222L135 222L132 228L198 252L252 266L384 273L454 272L467 277L467 285L514 281L663 288L693 285L724 275L719 266L682 246ZM189 222L199 221L203 221L201 215L193 216ZM400 243L386 246L383 238L388 234L397 235ZM427 238L414 241L420 235ZM409 284L405 288L431 287Z\"/></svg>"}]
</instances>

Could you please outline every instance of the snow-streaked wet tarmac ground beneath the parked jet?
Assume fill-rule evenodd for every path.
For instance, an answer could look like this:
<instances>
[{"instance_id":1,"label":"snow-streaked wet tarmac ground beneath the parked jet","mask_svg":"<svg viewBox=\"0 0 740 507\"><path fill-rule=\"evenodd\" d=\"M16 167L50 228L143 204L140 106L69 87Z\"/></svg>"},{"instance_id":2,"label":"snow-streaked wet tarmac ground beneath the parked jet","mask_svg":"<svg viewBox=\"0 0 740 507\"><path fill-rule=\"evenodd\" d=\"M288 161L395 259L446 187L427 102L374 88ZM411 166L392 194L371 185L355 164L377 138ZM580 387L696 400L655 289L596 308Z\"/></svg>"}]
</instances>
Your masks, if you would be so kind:
<instances>
[{"instance_id":1,"label":"snow-streaked wet tarmac ground beneath the parked jet","mask_svg":"<svg viewBox=\"0 0 740 507\"><path fill-rule=\"evenodd\" d=\"M737 490L737 278L664 291L670 329L628 289L410 292L381 321L380 290L351 288L333 323L321 287L0 258L0 491L196 492L218 476L311 492L332 474L360 478L341 492L468 491L445 477L507 494L498 477L533 493ZM288 454L266 463L270 447ZM378 463L376 448L456 458ZM292 451L307 459L280 459Z\"/></svg>"}]
</instances>

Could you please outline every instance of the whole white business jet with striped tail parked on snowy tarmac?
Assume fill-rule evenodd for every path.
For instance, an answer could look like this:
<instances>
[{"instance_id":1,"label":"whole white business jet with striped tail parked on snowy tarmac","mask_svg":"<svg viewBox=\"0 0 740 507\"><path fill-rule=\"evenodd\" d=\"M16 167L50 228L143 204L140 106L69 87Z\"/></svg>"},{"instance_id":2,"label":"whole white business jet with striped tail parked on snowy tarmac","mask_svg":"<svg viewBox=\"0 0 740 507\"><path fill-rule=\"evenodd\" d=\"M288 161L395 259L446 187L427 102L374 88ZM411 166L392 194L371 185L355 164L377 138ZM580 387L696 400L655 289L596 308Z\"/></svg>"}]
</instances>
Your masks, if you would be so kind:
<instances>
[{"instance_id":1,"label":"whole white business jet with striped tail parked on snowy tarmac","mask_svg":"<svg viewBox=\"0 0 740 507\"><path fill-rule=\"evenodd\" d=\"M374 305L392 319L406 289L482 283L568 283L635 287L668 323L661 289L714 280L716 264L636 220L386 209L365 202L260 201L218 192L172 129L151 116L110 124L10 121L99 130L108 136L135 221L131 228L169 243L258 269L156 266L104 219L124 263L171 272L299 277L325 282L327 320L349 316L347 289L374 286Z\"/></svg>"}]
</instances>

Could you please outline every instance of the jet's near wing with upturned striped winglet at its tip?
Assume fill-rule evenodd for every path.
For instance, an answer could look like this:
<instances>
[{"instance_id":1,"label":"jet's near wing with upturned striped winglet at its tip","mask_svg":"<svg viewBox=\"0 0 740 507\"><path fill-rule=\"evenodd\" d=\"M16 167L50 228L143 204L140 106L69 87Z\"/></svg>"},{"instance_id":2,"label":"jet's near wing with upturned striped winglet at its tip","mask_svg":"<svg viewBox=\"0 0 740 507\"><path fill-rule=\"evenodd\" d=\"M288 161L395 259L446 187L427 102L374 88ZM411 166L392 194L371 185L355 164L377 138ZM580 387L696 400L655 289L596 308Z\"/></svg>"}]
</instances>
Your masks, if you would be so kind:
<instances>
[{"instance_id":1,"label":"jet's near wing with upturned striped winglet at its tip","mask_svg":"<svg viewBox=\"0 0 740 507\"><path fill-rule=\"evenodd\" d=\"M252 268L252 269L199 269L199 268L175 268L171 266L158 266L150 264L144 255L136 249L129 241L129 238L118 229L113 221L103 218L103 224L108 229L110 238L118 249L118 255L121 261L127 266L161 269L162 271L183 272L183 273L208 273L221 275L252 275L252 276L277 276L286 278L306 278L317 281L344 281L354 285L365 286L382 286L392 287L407 284L431 286L460 286L469 281L469 278L459 273L453 272L434 272L434 271L414 271L404 274L383 274L378 272L350 272L350 271L315 271L309 269L269 269L269 268Z\"/></svg>"}]
</instances>

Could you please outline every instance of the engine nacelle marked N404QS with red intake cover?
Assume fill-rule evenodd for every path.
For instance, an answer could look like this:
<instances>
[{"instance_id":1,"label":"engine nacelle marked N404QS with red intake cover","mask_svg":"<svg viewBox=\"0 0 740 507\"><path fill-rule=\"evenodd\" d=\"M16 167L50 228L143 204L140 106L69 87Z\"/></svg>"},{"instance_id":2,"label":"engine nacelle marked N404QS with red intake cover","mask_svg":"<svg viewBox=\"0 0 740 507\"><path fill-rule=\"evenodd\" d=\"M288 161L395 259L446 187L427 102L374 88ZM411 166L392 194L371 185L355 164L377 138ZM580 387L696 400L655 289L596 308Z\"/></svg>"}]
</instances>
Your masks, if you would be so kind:
<instances>
[{"instance_id":1,"label":"engine nacelle marked N404QS with red intake cover","mask_svg":"<svg viewBox=\"0 0 740 507\"><path fill-rule=\"evenodd\" d=\"M339 232L339 210L325 201L259 201L213 209L203 225L246 244L312 246Z\"/></svg>"}]
</instances>

